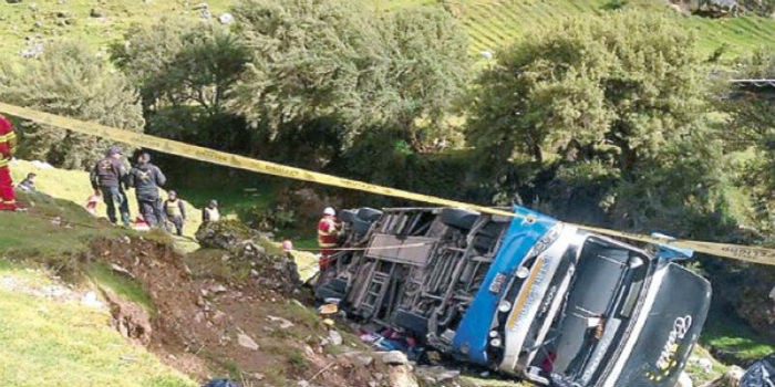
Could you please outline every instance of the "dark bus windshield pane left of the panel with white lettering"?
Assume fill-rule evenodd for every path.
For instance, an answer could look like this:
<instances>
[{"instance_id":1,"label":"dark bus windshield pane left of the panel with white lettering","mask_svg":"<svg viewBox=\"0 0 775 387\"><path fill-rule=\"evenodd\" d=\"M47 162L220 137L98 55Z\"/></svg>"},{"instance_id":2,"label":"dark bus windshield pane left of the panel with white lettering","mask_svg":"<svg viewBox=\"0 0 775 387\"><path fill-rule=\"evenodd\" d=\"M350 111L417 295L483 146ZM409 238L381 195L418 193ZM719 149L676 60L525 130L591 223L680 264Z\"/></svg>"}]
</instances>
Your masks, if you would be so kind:
<instances>
[{"instance_id":1,"label":"dark bus windshield pane left of the panel with white lettering","mask_svg":"<svg viewBox=\"0 0 775 387\"><path fill-rule=\"evenodd\" d=\"M637 250L588 238L554 321L535 323L551 325L531 356L533 365L577 380L591 379L632 316L648 271L649 259Z\"/></svg>"}]
</instances>

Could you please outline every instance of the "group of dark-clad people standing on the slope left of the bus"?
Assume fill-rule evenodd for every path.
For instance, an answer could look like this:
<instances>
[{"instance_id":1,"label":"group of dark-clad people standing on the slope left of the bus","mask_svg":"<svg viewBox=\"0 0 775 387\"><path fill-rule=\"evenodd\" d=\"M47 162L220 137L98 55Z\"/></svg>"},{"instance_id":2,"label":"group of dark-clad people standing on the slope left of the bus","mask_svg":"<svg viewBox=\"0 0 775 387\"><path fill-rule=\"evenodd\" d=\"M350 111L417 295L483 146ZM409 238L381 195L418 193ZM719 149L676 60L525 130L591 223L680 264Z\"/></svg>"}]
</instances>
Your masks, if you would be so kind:
<instances>
[{"instance_id":1,"label":"group of dark-clad people standing on the slope left of the bus","mask_svg":"<svg viewBox=\"0 0 775 387\"><path fill-rule=\"evenodd\" d=\"M183 226L186 221L186 208L174 190L167 192L167 199L162 201L159 187L167 184L167 177L162 169L151 163L148 153L141 153L136 164L128 170L123 161L123 150L121 147L112 146L105 153L105 157L94 165L90 174L90 180L94 195L86 203L86 208L94 210L96 198L102 197L107 207L107 219L117 223L116 210L121 216L121 221L125 227L130 227L130 206L126 197L126 189L134 188L137 199L137 208L142 220L149 228L165 228L172 224L169 231L177 236L183 234ZM218 202L210 200L203 210L204 222L218 221L220 213Z\"/></svg>"}]
</instances>

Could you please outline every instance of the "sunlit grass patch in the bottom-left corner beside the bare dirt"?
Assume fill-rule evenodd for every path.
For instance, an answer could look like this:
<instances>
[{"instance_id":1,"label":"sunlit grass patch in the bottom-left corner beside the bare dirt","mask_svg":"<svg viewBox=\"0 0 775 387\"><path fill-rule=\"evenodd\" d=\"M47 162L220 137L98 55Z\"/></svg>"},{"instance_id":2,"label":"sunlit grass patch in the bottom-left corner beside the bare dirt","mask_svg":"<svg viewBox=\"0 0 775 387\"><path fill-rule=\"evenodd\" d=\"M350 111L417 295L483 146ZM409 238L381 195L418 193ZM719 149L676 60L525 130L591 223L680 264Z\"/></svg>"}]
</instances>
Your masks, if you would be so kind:
<instances>
[{"instance_id":1,"label":"sunlit grass patch in the bottom-left corner beside the bare dirt","mask_svg":"<svg viewBox=\"0 0 775 387\"><path fill-rule=\"evenodd\" d=\"M0 269L0 275L42 274ZM3 386L183 387L194 381L127 343L105 311L0 289L0 384Z\"/></svg>"}]
</instances>

